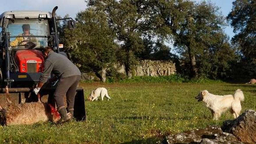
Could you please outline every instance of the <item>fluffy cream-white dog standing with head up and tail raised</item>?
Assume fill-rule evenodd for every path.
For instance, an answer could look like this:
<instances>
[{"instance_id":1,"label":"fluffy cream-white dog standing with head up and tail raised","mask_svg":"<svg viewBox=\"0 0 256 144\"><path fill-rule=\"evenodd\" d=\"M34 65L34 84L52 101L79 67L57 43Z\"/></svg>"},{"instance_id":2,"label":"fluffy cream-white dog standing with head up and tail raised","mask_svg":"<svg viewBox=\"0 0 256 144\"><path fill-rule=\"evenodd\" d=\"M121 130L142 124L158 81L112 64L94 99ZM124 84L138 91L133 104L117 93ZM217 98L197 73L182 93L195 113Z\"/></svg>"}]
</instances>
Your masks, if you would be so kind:
<instances>
[{"instance_id":1,"label":"fluffy cream-white dog standing with head up and tail raised","mask_svg":"<svg viewBox=\"0 0 256 144\"><path fill-rule=\"evenodd\" d=\"M218 120L221 113L225 112L227 109L230 109L230 112L233 114L234 118L237 118L242 109L240 102L243 101L244 96L240 89L235 91L234 96L213 95L207 90L202 90L198 96L195 97L195 99L198 99L198 102L205 102L206 107L211 111L213 119Z\"/></svg>"}]
</instances>

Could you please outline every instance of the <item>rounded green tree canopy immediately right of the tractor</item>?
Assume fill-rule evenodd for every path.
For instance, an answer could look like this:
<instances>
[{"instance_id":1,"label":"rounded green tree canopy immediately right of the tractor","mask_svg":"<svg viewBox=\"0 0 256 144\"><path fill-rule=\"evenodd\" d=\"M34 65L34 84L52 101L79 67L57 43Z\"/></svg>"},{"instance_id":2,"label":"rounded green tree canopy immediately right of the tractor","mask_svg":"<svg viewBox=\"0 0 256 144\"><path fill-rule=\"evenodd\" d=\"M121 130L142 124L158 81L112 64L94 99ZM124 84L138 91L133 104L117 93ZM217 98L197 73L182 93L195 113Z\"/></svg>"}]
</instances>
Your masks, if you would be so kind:
<instances>
[{"instance_id":1,"label":"rounded green tree canopy immediately right of the tractor","mask_svg":"<svg viewBox=\"0 0 256 144\"><path fill-rule=\"evenodd\" d=\"M102 78L99 71L116 61L116 44L108 27L105 13L87 8L77 14L77 28L66 30L65 44L72 60L82 71L93 71Z\"/></svg>"}]
</instances>

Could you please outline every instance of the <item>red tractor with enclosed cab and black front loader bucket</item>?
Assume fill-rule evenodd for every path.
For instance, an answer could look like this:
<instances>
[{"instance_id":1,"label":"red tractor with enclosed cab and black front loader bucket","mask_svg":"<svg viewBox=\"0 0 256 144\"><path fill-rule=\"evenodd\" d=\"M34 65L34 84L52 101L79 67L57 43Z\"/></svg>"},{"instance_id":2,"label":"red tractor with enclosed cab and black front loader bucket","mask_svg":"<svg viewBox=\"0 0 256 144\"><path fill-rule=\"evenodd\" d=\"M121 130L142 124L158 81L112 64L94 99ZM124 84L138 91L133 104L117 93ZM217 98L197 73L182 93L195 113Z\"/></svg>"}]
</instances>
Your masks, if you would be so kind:
<instances>
[{"instance_id":1,"label":"red tractor with enclosed cab and black front loader bucket","mask_svg":"<svg viewBox=\"0 0 256 144\"><path fill-rule=\"evenodd\" d=\"M72 18L57 19L56 6L52 13L37 10L7 11L0 15L0 104L6 104L5 87L8 87L10 99L17 103L33 102L36 97L33 85L37 83L43 71L45 47L63 54L63 45L59 44L57 24L64 21L69 29L74 29ZM25 30L29 29L29 35ZM65 53L64 53L65 55ZM45 83L44 96L53 97L56 83ZM50 99L50 98L49 98ZM49 102L48 99L48 102ZM52 102L52 101L51 101ZM83 88L77 88L74 104L74 117L85 120Z\"/></svg>"}]
</instances>

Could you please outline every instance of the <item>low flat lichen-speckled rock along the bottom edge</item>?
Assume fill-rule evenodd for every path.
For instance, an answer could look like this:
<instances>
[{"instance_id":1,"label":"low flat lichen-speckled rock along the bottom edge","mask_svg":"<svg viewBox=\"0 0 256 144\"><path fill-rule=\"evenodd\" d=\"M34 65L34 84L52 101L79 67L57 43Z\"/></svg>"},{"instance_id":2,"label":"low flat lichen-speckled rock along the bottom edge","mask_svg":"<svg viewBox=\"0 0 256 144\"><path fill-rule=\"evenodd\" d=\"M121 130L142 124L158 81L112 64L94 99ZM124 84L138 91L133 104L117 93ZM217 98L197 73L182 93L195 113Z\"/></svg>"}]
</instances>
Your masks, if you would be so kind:
<instances>
[{"instance_id":1,"label":"low flat lichen-speckled rock along the bottom edge","mask_svg":"<svg viewBox=\"0 0 256 144\"><path fill-rule=\"evenodd\" d=\"M185 131L166 137L162 144L243 144L220 127L211 126L205 129Z\"/></svg>"}]
</instances>

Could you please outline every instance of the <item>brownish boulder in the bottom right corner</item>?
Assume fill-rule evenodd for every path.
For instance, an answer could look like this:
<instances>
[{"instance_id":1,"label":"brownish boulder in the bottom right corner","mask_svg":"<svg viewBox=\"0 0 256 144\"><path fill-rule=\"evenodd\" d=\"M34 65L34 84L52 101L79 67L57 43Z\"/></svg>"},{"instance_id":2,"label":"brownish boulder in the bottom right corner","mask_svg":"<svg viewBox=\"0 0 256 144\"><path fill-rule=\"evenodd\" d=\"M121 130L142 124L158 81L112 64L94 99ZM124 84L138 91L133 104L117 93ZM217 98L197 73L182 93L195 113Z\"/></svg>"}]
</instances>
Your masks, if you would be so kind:
<instances>
[{"instance_id":1,"label":"brownish boulder in the bottom right corner","mask_svg":"<svg viewBox=\"0 0 256 144\"><path fill-rule=\"evenodd\" d=\"M256 112L247 110L234 120L226 120L222 130L233 134L242 142L256 143Z\"/></svg>"}]
</instances>

